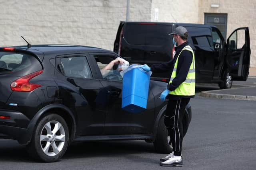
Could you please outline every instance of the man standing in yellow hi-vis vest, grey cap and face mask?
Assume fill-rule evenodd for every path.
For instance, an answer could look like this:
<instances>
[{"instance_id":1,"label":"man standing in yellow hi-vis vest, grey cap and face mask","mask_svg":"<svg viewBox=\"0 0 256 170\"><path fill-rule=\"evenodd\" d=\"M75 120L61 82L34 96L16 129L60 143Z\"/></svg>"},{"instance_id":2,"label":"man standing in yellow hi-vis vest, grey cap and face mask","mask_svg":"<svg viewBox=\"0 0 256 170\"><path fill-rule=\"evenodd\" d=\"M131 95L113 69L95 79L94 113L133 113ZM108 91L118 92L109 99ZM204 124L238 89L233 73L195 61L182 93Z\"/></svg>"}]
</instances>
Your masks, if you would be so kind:
<instances>
[{"instance_id":1,"label":"man standing in yellow hi-vis vest, grey cap and face mask","mask_svg":"<svg viewBox=\"0 0 256 170\"><path fill-rule=\"evenodd\" d=\"M170 82L160 98L162 101L165 98L169 99L164 124L172 141L173 152L160 159L164 161L160 163L160 166L182 166L182 119L186 105L190 98L195 95L196 69L194 52L187 42L188 31L186 28L176 27L169 35L173 35L177 45L174 59L168 63L153 64L151 68L144 64L142 68L152 72L166 72L168 70L171 72Z\"/></svg>"}]
</instances>

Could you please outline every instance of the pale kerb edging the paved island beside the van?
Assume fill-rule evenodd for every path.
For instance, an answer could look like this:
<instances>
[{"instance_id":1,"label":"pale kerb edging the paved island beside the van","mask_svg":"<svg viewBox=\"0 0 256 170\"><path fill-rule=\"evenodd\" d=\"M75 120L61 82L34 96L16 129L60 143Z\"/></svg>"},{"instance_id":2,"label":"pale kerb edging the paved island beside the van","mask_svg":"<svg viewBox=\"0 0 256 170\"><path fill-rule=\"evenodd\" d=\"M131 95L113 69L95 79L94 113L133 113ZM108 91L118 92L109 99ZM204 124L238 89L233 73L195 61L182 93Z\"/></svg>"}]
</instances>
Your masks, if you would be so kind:
<instances>
[{"instance_id":1,"label":"pale kerb edging the paved island beside the van","mask_svg":"<svg viewBox=\"0 0 256 170\"><path fill-rule=\"evenodd\" d=\"M256 86L250 86L250 87L241 87L241 88L254 88ZM233 88L238 89L238 88ZM239 88L240 89L240 88ZM227 90L227 89L223 89ZM242 96L242 95L232 95L232 94L216 94L211 92L216 91L222 91L222 90L209 90L200 92L199 96L207 97L207 98L217 98L217 99L232 99L232 100L250 100L250 101L256 101L256 96Z\"/></svg>"}]
</instances>

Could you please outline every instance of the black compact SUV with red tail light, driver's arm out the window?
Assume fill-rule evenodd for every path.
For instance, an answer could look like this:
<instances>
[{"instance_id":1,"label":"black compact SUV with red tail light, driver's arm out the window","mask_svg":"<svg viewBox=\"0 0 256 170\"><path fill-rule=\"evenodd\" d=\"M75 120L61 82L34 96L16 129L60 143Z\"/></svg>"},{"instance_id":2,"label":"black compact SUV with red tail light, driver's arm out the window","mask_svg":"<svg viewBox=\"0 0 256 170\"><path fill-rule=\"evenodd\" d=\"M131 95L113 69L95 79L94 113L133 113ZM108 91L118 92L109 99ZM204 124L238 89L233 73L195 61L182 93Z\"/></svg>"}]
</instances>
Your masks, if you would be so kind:
<instances>
[{"instance_id":1,"label":"black compact SUV with red tail light, driver's arm out the window","mask_svg":"<svg viewBox=\"0 0 256 170\"><path fill-rule=\"evenodd\" d=\"M54 162L77 141L145 140L170 153L163 122L166 83L150 81L147 109L121 109L122 77L101 68L119 57L78 45L0 48L0 138L26 145L37 160ZM184 135L191 120L188 104Z\"/></svg>"}]
</instances>

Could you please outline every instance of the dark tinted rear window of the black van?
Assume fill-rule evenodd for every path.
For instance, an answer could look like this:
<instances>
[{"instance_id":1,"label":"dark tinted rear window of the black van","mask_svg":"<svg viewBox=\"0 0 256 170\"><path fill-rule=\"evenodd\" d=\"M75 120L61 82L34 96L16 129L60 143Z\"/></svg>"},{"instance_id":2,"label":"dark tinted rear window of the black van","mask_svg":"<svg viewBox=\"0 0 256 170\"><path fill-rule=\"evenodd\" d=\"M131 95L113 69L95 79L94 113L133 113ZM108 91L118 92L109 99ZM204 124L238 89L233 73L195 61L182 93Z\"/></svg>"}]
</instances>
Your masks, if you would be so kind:
<instances>
[{"instance_id":1,"label":"dark tinted rear window of the black van","mask_svg":"<svg viewBox=\"0 0 256 170\"><path fill-rule=\"evenodd\" d=\"M160 46L169 43L170 25L126 24L124 39L132 45Z\"/></svg>"}]
</instances>

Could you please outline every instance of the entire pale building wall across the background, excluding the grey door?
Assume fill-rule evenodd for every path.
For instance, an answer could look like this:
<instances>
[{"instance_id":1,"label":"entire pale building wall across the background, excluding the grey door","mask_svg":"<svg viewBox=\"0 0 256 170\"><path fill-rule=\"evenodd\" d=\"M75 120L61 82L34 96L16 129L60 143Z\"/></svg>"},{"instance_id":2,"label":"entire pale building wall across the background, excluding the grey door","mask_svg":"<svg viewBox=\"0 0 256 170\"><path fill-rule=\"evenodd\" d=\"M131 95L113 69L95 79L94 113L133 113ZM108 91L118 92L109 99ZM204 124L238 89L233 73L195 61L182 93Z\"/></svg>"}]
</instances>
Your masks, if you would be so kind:
<instances>
[{"instance_id":1,"label":"entire pale building wall across the background, excluding the grey door","mask_svg":"<svg viewBox=\"0 0 256 170\"><path fill-rule=\"evenodd\" d=\"M126 1L0 0L0 46L26 45L22 35L32 45L113 50L118 25L126 20ZM256 0L130 0L130 21L204 23L204 13L228 14L227 35L237 27L249 27L252 67L256 67L255 11Z\"/></svg>"}]
</instances>

